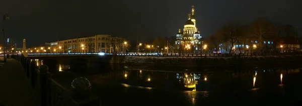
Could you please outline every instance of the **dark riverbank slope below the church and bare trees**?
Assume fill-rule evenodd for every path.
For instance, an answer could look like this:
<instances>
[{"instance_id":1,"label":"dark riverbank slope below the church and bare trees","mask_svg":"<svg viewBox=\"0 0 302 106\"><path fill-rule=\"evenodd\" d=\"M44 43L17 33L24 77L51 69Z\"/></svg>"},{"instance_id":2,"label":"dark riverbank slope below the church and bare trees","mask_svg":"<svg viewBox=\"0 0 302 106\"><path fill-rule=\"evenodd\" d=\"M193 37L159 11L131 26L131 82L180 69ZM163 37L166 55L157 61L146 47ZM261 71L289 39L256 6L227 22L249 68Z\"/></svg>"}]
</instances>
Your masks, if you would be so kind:
<instances>
[{"instance_id":1,"label":"dark riverbank slope below the church and bare trees","mask_svg":"<svg viewBox=\"0 0 302 106\"><path fill-rule=\"evenodd\" d=\"M230 57L153 57L153 56L125 56L123 64L127 65L155 65L155 66L185 66L185 67L233 67L273 65L276 63L302 62L300 55L282 56L230 56Z\"/></svg>"}]
</instances>

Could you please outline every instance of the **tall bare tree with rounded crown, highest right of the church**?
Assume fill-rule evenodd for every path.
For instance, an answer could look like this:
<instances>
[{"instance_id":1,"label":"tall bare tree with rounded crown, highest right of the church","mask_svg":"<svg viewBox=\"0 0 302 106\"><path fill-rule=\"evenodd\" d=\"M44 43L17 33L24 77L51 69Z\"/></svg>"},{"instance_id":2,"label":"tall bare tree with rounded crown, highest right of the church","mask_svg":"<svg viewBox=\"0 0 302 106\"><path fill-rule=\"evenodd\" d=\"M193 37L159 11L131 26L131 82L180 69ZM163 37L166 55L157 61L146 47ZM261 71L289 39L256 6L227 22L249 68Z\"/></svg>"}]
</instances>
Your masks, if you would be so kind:
<instances>
[{"instance_id":1,"label":"tall bare tree with rounded crown, highest right of the church","mask_svg":"<svg viewBox=\"0 0 302 106\"><path fill-rule=\"evenodd\" d=\"M271 38L274 34L274 25L268 18L258 18L250 25L250 34L258 40L260 51L262 52L263 40Z\"/></svg>"}]
</instances>

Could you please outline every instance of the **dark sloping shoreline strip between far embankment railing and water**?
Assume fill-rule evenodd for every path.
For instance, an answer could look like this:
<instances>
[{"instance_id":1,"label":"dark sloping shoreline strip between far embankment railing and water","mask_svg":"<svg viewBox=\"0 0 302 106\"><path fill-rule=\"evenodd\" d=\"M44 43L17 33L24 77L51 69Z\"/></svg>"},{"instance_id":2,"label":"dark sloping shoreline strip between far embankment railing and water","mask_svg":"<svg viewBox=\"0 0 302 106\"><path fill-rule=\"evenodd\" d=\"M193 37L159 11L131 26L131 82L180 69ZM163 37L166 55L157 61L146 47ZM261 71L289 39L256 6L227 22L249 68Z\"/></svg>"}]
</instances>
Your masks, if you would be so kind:
<instances>
[{"instance_id":1,"label":"dark sloping shoreline strip between far embankment railing and water","mask_svg":"<svg viewBox=\"0 0 302 106\"><path fill-rule=\"evenodd\" d=\"M195 58L195 59L194 59ZM127 60L128 59L128 60ZM135 61L138 60L138 61ZM161 62L159 62L161 61ZM177 61L177 62L174 62ZM158 62L158 63L157 63ZM158 57L125 57L122 65L148 67L180 67L180 68L239 68L254 69L257 67L282 67L300 65L302 56L242 56L242 57L189 57L189 58L158 58ZM278 64L278 65L276 65Z\"/></svg>"}]
</instances>

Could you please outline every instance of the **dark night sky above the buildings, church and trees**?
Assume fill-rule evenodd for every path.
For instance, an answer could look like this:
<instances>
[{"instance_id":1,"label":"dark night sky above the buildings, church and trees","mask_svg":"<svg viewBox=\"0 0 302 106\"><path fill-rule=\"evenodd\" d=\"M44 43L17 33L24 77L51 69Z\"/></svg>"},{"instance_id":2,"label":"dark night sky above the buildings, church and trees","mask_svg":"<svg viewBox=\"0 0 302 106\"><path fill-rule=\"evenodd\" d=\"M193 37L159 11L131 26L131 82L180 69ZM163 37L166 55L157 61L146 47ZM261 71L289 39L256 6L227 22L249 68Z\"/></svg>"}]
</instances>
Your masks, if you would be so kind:
<instances>
[{"instance_id":1,"label":"dark night sky above the buildings, church and trees","mask_svg":"<svg viewBox=\"0 0 302 106\"><path fill-rule=\"evenodd\" d=\"M0 14L10 16L6 38L21 47L22 39L27 46L38 46L95 34L141 41L175 36L192 5L203 37L230 21L247 24L257 17L298 26L302 33L301 0L2 0Z\"/></svg>"}]
</instances>

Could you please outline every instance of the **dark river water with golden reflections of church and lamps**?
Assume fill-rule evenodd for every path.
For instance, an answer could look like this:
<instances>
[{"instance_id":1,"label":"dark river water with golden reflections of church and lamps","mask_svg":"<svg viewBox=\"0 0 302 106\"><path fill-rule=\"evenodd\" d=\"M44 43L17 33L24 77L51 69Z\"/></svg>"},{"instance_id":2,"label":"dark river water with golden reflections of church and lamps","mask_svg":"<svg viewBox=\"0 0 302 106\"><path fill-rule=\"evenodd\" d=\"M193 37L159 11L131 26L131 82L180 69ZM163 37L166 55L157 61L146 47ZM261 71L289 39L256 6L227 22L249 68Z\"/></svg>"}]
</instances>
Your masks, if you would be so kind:
<instances>
[{"instance_id":1,"label":"dark river water with golden reflections of church and lamps","mask_svg":"<svg viewBox=\"0 0 302 106\"><path fill-rule=\"evenodd\" d=\"M300 68L175 72L72 66L50 68L53 78L66 87L74 78L88 78L102 105L302 105Z\"/></svg>"}]
</instances>

